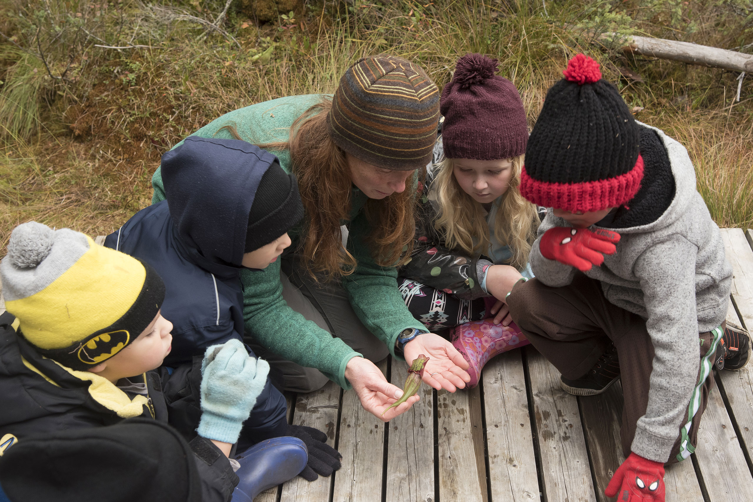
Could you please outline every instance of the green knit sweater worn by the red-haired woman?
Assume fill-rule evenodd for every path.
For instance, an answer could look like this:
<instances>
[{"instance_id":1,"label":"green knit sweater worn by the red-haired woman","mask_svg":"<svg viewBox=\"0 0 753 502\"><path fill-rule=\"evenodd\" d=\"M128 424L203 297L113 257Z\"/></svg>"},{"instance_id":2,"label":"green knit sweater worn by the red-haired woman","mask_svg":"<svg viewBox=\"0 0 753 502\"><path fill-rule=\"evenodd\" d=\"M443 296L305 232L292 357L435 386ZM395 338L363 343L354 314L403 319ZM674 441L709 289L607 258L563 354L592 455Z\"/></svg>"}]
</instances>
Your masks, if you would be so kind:
<instances>
[{"instance_id":1,"label":"green knit sweater worn by the red-haired woman","mask_svg":"<svg viewBox=\"0 0 753 502\"><path fill-rule=\"evenodd\" d=\"M202 138L233 138L227 129L218 132L222 126L232 124L236 126L241 138L254 144L288 141L293 121L320 99L322 96L311 94L247 106L224 114L193 135ZM291 172L290 151L278 151L275 154L282 169ZM151 184L154 187L152 203L165 199L159 168L154 172ZM348 251L358 260L358 267L352 275L343 278L343 285L358 318L371 333L386 343L395 356L395 340L401 330L407 327L425 328L410 315L402 300L396 280L397 270L374 263L364 242L364 237L370 231L362 211L366 201L367 197L361 190L353 187ZM295 246L300 236L300 226L291 230L290 234ZM260 272L242 270L241 281L245 288L245 333L251 333L256 342L276 354L303 367L316 368L341 387L350 388L345 378L345 367L352 357L361 354L314 322L306 321L303 315L285 303L280 282L280 260Z\"/></svg>"}]
</instances>

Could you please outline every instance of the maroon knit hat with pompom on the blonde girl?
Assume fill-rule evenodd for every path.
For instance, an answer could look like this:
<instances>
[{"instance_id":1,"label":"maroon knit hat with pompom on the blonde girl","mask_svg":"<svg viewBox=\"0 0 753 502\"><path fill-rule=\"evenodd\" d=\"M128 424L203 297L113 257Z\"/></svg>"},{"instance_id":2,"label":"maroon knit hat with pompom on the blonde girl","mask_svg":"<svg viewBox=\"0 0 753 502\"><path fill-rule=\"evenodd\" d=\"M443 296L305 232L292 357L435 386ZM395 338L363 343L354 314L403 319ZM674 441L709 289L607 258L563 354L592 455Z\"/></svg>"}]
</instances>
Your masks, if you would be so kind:
<instances>
[{"instance_id":1,"label":"maroon knit hat with pompom on the blonde girl","mask_svg":"<svg viewBox=\"0 0 753 502\"><path fill-rule=\"evenodd\" d=\"M466 54L444 86L442 145L450 159L495 160L526 152L528 124L511 81L494 75L497 59Z\"/></svg>"}]
</instances>

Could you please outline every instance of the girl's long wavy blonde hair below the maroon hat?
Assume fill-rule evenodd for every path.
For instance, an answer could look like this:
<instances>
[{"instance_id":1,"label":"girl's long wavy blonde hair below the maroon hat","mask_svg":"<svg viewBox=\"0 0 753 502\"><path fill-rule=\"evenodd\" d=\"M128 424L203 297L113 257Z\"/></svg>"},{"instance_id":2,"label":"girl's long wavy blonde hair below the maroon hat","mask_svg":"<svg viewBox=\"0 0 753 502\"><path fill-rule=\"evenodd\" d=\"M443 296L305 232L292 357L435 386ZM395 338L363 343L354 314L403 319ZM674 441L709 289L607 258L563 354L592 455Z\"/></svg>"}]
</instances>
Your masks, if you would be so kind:
<instances>
[{"instance_id":1,"label":"girl's long wavy blonde hair below the maroon hat","mask_svg":"<svg viewBox=\"0 0 753 502\"><path fill-rule=\"evenodd\" d=\"M508 190L494 202L499 205L493 222L494 235L501 244L510 246L513 253L510 265L517 269L526 268L538 228L536 206L523 199L518 191L523 158L520 155L512 159L513 176ZM437 166L435 184L440 211L435 227L444 234L450 249L459 247L473 256L489 248L489 225L492 222L486 224L486 211L462 190L453 174L453 166L453 159L447 158Z\"/></svg>"}]
</instances>

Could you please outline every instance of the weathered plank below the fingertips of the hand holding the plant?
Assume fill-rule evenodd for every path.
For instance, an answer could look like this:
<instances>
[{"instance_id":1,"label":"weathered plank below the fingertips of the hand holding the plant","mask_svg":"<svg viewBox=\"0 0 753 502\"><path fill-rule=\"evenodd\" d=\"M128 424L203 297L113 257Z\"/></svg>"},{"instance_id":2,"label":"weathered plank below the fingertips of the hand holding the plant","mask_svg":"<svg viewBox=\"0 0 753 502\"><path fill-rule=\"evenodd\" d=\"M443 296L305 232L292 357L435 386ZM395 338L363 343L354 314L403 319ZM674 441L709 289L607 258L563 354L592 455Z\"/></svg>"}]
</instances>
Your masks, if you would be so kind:
<instances>
[{"instance_id":1,"label":"weathered plank below the fingertips of the hand holding the plant","mask_svg":"<svg viewBox=\"0 0 753 502\"><path fill-rule=\"evenodd\" d=\"M405 385L405 361L392 360L392 382ZM434 502L434 398L422 385L418 403L389 421L386 502Z\"/></svg>"}]
</instances>

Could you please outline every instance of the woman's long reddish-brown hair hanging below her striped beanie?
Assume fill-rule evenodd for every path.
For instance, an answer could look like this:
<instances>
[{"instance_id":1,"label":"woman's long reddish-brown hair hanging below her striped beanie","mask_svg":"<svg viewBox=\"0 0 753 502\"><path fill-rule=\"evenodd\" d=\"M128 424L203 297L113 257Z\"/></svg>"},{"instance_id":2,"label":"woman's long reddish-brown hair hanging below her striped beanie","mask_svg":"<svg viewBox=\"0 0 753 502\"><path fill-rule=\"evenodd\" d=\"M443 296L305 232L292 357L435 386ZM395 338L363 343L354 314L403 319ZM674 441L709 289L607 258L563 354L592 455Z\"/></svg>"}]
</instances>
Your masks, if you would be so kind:
<instances>
[{"instance_id":1,"label":"woman's long reddish-brown hair hanging below her striped beanie","mask_svg":"<svg viewBox=\"0 0 753 502\"><path fill-rule=\"evenodd\" d=\"M358 263L343 248L340 224L348 220L352 205L352 178L345 152L334 144L328 131L331 98L323 97L298 117L288 141L258 145L268 151L290 150L292 171L298 181L306 211L298 251L309 274L319 280L341 278ZM239 137L231 124L224 126ZM366 244L379 266L396 266L413 248L415 182L409 178L402 193L384 199L368 199L364 206L370 233Z\"/></svg>"}]
</instances>

